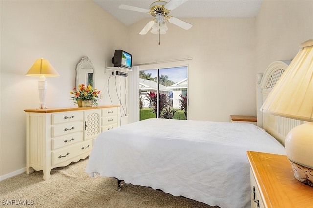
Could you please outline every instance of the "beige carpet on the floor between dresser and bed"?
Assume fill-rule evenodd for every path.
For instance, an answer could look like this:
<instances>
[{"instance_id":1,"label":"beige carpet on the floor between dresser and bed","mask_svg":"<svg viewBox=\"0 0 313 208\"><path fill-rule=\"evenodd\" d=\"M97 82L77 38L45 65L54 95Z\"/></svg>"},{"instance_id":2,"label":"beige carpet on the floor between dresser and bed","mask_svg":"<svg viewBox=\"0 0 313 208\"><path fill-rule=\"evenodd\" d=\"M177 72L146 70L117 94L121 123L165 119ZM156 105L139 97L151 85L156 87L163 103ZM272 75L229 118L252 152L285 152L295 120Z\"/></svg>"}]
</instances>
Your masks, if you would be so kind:
<instances>
[{"instance_id":1,"label":"beige carpet on the floor between dresser and bed","mask_svg":"<svg viewBox=\"0 0 313 208\"><path fill-rule=\"evenodd\" d=\"M124 182L123 189L117 192L116 179L91 178L84 172L87 161L85 159L67 167L55 168L51 171L51 179L47 181L43 180L42 171L30 175L23 173L1 181L0 207L213 208L191 199ZM10 201L11 205L6 205Z\"/></svg>"}]
</instances>

